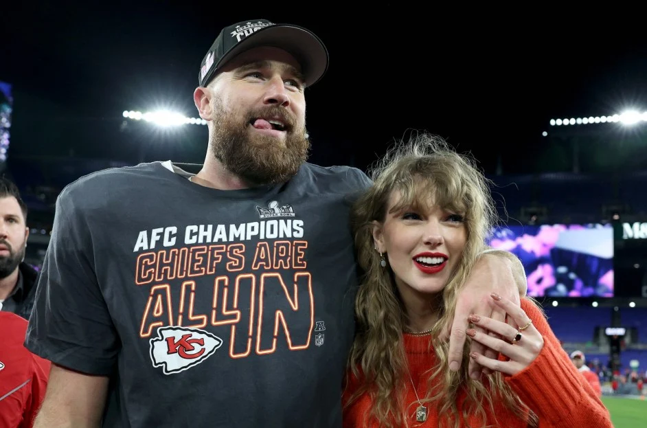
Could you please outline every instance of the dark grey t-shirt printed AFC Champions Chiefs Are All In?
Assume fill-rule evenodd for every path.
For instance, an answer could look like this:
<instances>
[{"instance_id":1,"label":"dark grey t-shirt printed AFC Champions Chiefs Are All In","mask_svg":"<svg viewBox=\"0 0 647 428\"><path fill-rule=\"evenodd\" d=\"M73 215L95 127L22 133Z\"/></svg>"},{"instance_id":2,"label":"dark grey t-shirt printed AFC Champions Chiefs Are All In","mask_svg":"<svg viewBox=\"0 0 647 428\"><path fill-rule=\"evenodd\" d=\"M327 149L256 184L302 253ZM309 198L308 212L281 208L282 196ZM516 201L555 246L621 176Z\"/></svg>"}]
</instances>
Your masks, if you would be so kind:
<instances>
[{"instance_id":1,"label":"dark grey t-shirt printed AFC Champions Chiefs Are All In","mask_svg":"<svg viewBox=\"0 0 647 428\"><path fill-rule=\"evenodd\" d=\"M348 216L370 180L312 164L247 190L188 176L155 162L61 192L25 346L111 376L104 427L341 427Z\"/></svg>"}]
</instances>

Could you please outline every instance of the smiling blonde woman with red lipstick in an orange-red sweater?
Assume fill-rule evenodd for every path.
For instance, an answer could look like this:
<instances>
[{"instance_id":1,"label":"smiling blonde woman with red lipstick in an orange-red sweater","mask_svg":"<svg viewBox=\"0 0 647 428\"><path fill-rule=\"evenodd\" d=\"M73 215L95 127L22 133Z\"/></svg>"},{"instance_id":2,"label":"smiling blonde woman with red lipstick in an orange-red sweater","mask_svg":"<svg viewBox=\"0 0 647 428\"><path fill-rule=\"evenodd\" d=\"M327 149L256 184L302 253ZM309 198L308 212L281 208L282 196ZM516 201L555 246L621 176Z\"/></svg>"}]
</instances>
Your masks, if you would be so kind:
<instances>
[{"instance_id":1,"label":"smiling blonde woman with red lipstick in an orange-red sweater","mask_svg":"<svg viewBox=\"0 0 647 428\"><path fill-rule=\"evenodd\" d=\"M449 370L441 333L495 222L488 183L467 157L431 135L401 144L374 171L354 207L363 282L345 385L344 427L613 427L530 298L492 294L508 324L484 316L467 331L498 359L466 344ZM472 359L493 371L472 379Z\"/></svg>"}]
</instances>

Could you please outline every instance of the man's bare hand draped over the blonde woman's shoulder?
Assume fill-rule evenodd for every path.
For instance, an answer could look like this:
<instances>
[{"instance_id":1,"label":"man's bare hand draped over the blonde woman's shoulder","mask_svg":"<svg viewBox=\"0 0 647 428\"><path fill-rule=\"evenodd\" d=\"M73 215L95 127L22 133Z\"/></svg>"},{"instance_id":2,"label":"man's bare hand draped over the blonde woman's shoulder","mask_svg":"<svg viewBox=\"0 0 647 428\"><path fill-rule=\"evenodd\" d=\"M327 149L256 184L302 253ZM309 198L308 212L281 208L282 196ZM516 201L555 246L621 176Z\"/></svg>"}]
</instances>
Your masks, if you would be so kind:
<instances>
[{"instance_id":1,"label":"man's bare hand draped over the blonde woman's shoulder","mask_svg":"<svg viewBox=\"0 0 647 428\"><path fill-rule=\"evenodd\" d=\"M506 322L506 312L490 301L490 293L495 292L510 299L517 306L521 305L520 295L525 295L527 284L521 262L507 251L491 251L481 256L472 273L458 295L456 311L451 328L442 333L442 338L449 336L449 369L459 370L463 359L465 332L468 329L468 317L472 314L489 317ZM516 326L515 326L516 327ZM480 326L474 326L478 333L488 332ZM477 341L472 341L470 352L477 352L487 358L496 359L497 352L486 348ZM487 368L481 368L470 359L469 374L472 379L478 379L481 369L489 374Z\"/></svg>"}]
</instances>

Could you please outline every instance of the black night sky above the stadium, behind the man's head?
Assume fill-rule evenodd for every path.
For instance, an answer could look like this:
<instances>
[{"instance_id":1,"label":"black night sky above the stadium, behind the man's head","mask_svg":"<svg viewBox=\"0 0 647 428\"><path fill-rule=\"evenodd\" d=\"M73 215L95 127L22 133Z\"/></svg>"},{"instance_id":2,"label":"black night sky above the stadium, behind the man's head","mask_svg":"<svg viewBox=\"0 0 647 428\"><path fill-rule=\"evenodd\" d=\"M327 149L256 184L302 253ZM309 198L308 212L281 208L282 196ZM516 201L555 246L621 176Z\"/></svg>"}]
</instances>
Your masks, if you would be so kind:
<instances>
[{"instance_id":1,"label":"black night sky above the stadium, behind the man's head","mask_svg":"<svg viewBox=\"0 0 647 428\"><path fill-rule=\"evenodd\" d=\"M364 168L418 129L469 150L486 171L502 153L507 172L534 172L552 153L541 137L551 118L647 109L644 25L608 5L24 3L3 6L0 17L0 80L14 85L10 157L73 150L135 162L146 142L146 160L201 162L205 126L161 135L130 123L124 133L121 113L166 104L195 117L203 55L221 27L258 18L307 27L328 47L328 73L306 92L318 164Z\"/></svg>"}]
</instances>

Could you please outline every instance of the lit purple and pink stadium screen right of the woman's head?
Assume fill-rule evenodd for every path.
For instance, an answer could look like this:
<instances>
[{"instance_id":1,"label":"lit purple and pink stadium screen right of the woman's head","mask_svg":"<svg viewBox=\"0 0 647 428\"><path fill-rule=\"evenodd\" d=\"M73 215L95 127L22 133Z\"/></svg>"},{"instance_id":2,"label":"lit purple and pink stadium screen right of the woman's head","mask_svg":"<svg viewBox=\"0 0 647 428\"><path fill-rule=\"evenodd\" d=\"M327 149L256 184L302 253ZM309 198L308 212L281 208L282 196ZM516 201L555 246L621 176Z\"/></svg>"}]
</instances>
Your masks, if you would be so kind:
<instances>
[{"instance_id":1,"label":"lit purple and pink stadium screen right of the woman's head","mask_svg":"<svg viewBox=\"0 0 647 428\"><path fill-rule=\"evenodd\" d=\"M611 225L497 227L488 245L521 260L532 297L613 297Z\"/></svg>"}]
</instances>

